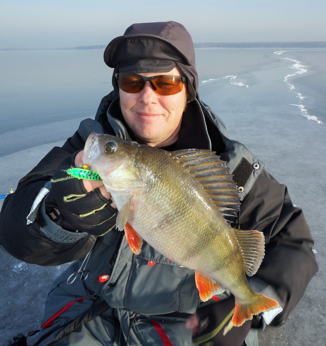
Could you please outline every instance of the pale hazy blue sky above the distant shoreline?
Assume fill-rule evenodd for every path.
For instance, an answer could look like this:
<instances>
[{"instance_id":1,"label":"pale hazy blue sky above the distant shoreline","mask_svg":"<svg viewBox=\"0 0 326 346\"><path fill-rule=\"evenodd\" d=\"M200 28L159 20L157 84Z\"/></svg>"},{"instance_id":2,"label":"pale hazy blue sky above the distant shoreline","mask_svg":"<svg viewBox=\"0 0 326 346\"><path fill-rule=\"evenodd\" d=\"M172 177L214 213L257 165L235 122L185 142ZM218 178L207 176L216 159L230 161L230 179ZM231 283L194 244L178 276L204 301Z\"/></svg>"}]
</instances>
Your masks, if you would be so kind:
<instances>
[{"instance_id":1,"label":"pale hazy blue sky above the distant shoreline","mask_svg":"<svg viewBox=\"0 0 326 346\"><path fill-rule=\"evenodd\" d=\"M106 45L174 20L194 43L326 41L325 0L0 0L0 48Z\"/></svg>"}]
</instances>

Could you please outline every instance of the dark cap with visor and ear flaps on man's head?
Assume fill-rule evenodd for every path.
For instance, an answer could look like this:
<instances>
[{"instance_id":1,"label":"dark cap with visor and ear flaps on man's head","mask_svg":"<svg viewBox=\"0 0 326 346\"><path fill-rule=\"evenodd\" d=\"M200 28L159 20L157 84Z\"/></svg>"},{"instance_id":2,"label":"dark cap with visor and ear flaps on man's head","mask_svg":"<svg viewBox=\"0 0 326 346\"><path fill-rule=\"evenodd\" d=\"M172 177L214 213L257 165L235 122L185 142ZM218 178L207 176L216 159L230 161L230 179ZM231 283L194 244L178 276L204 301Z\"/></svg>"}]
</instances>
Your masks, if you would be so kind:
<instances>
[{"instance_id":1,"label":"dark cap with visor and ear flaps on man's head","mask_svg":"<svg viewBox=\"0 0 326 346\"><path fill-rule=\"evenodd\" d=\"M104 62L114 67L112 84L117 72L169 72L175 66L188 79L188 99L194 100L198 88L195 50L186 28L177 22L132 24L123 36L114 38L104 51Z\"/></svg>"}]
</instances>

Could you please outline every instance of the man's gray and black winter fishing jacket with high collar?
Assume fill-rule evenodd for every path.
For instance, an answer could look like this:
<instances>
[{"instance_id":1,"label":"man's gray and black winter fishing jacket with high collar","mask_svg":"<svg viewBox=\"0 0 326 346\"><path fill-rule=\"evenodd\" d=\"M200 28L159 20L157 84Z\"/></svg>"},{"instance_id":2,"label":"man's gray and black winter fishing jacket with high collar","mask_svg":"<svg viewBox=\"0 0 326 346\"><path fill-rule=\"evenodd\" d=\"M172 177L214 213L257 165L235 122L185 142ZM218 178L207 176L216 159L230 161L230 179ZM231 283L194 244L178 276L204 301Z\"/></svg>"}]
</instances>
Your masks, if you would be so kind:
<instances>
[{"instance_id":1,"label":"man's gray and black winter fishing jacket with high collar","mask_svg":"<svg viewBox=\"0 0 326 346\"><path fill-rule=\"evenodd\" d=\"M15 193L5 199L1 210L0 244L8 253L37 265L76 261L58 277L49 292L41 345L78 328L108 311L109 307L120 311L120 317L117 315L116 318L120 319L124 331L127 328L123 326L125 314L129 316L126 318L128 323L138 316L139 330L140 326L146 326L146 319L155 326L162 316L165 321L178 326L177 322L184 324L184 319L200 304L194 272L169 261L148 244L145 243L140 254L135 255L123 234L115 228L96 238L85 232L67 231L46 214L42 198L51 188L54 170L64 158L83 149L91 132L134 139L123 121L113 92L102 99L95 120L83 120L61 148L54 147L20 180ZM292 205L286 186L273 179L257 157L242 144L228 138L223 122L199 96L188 104L179 140L171 150L182 148L211 149L227 162L241 199L240 215L233 226L259 230L265 235L265 257L254 278L263 286L276 289L283 310L271 324L282 325L317 272L311 251L313 239L302 211ZM112 226L114 223L115 218ZM78 270L83 257L93 247L87 264L89 277L84 282L76 280L68 286L68 276ZM220 298L225 297L227 294ZM173 329L166 324L164 328L173 345L181 345L173 340L180 339L183 333L185 338L191 338L191 334L180 326ZM133 331L135 334L137 328ZM140 331L133 335L139 344L142 343L140 335L144 333Z\"/></svg>"}]
</instances>

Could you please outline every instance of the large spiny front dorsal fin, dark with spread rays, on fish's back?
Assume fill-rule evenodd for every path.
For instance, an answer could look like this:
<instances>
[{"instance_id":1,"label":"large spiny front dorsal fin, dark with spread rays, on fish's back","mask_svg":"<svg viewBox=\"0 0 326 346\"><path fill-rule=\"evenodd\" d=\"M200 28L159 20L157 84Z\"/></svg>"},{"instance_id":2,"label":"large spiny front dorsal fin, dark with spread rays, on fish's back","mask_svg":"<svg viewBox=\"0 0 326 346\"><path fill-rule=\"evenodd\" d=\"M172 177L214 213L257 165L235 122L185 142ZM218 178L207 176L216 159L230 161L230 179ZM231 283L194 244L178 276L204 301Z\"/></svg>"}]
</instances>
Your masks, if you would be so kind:
<instances>
[{"instance_id":1,"label":"large spiny front dorsal fin, dark with spread rays, on fish's back","mask_svg":"<svg viewBox=\"0 0 326 346\"><path fill-rule=\"evenodd\" d=\"M239 211L240 198L225 161L204 149L182 149L170 155L203 186L225 221L232 222Z\"/></svg>"}]
</instances>

